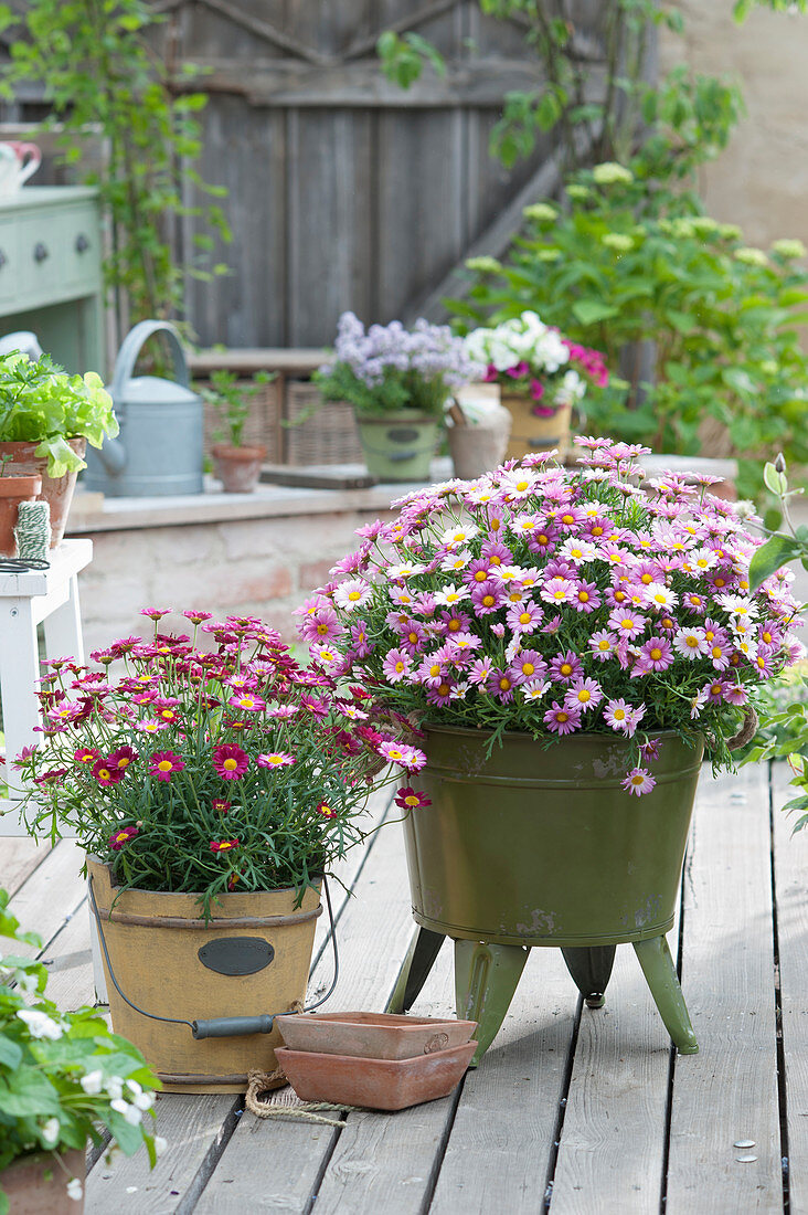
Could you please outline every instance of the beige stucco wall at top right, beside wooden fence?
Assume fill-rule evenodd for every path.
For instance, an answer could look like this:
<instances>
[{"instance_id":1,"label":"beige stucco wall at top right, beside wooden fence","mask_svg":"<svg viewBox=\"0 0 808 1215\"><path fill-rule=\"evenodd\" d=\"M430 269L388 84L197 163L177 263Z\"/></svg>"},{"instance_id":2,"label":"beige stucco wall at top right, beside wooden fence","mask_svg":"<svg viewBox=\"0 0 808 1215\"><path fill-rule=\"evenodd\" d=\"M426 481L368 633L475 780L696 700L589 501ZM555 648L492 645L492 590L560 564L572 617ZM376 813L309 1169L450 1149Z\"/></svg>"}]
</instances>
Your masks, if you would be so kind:
<instances>
[{"instance_id":1,"label":"beige stucco wall at top right, beside wooden fence","mask_svg":"<svg viewBox=\"0 0 808 1215\"><path fill-rule=\"evenodd\" d=\"M742 26L733 0L678 0L684 39L669 33L660 68L740 80L747 117L725 152L700 173L708 214L739 224L750 244L779 237L808 245L808 15L755 11Z\"/></svg>"}]
</instances>

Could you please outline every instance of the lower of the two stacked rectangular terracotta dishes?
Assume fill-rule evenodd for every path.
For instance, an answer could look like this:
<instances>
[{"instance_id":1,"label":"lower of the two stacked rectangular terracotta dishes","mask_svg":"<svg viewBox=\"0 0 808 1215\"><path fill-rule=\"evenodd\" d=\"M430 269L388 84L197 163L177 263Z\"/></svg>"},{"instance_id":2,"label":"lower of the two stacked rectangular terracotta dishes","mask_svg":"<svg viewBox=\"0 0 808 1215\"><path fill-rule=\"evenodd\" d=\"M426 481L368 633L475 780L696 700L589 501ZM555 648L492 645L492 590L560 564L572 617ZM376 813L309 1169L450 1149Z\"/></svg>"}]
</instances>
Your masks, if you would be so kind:
<instances>
[{"instance_id":1,"label":"lower of the two stacked rectangular terracotta dishes","mask_svg":"<svg viewBox=\"0 0 808 1215\"><path fill-rule=\"evenodd\" d=\"M465 1042L411 1059L368 1059L355 1055L317 1055L276 1050L289 1084L301 1101L330 1101L367 1109L406 1109L448 1097L471 1062L478 1044Z\"/></svg>"}]
</instances>

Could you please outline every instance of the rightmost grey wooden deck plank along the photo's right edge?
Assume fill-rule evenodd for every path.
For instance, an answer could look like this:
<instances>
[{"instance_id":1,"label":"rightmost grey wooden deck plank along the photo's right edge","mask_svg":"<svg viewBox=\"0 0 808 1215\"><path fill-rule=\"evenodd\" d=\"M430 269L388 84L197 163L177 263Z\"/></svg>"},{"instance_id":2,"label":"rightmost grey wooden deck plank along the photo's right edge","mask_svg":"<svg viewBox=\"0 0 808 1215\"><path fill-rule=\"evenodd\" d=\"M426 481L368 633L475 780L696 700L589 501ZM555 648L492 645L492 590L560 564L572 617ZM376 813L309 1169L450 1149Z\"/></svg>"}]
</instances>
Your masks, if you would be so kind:
<instances>
[{"instance_id":1,"label":"rightmost grey wooden deck plank along the photo's right edge","mask_svg":"<svg viewBox=\"0 0 808 1215\"><path fill-rule=\"evenodd\" d=\"M774 765L774 877L780 953L780 1004L785 1058L789 1193L792 1211L808 1211L808 899L804 832L792 837L793 816L782 813L796 790L791 770Z\"/></svg>"}]
</instances>

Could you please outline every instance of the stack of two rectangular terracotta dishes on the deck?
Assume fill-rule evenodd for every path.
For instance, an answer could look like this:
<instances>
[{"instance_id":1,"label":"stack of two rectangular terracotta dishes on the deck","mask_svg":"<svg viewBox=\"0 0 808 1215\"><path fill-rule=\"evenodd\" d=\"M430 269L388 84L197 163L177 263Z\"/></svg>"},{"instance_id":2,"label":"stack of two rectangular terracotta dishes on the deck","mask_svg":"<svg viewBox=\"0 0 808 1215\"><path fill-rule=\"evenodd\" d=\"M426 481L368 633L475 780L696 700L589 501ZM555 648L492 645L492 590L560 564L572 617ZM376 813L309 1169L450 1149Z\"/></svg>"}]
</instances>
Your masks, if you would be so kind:
<instances>
[{"instance_id":1,"label":"stack of two rectangular terracotta dishes on the deck","mask_svg":"<svg viewBox=\"0 0 808 1215\"><path fill-rule=\"evenodd\" d=\"M476 1041L476 1021L386 1012L292 1013L276 1018L279 1066L303 1101L406 1109L447 1097Z\"/></svg>"}]
</instances>

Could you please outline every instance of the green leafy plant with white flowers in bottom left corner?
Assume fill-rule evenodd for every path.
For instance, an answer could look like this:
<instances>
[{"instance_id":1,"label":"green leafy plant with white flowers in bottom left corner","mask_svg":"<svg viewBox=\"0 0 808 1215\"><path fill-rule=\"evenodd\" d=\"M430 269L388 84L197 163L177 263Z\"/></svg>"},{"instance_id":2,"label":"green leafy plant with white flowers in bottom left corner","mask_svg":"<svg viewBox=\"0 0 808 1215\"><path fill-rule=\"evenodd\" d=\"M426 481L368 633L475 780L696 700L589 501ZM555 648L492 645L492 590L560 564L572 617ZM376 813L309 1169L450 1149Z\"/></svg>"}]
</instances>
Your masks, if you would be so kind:
<instances>
[{"instance_id":1,"label":"green leafy plant with white flowers in bottom left corner","mask_svg":"<svg viewBox=\"0 0 808 1215\"><path fill-rule=\"evenodd\" d=\"M146 1146L152 1164L162 1141L142 1115L152 1111L157 1078L131 1042L113 1034L95 1008L60 1012L45 994L47 971L16 946L41 948L21 932L0 888L0 1174L19 1157L51 1152L58 1176L69 1174L61 1154L102 1141L102 1129L126 1155ZM0 1211L7 1210L0 1189Z\"/></svg>"}]
</instances>

